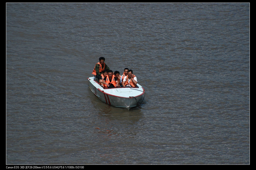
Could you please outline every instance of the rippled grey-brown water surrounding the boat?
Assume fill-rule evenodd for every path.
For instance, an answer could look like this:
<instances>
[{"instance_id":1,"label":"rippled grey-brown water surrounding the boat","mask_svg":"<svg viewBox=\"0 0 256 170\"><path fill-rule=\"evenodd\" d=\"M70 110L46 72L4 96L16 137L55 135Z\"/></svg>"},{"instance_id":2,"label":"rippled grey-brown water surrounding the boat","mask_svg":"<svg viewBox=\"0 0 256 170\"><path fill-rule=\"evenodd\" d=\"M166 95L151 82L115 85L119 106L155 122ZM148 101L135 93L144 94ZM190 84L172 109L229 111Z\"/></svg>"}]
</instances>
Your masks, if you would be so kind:
<instances>
[{"instance_id":1,"label":"rippled grey-brown water surrounding the boat","mask_svg":"<svg viewBox=\"0 0 256 170\"><path fill-rule=\"evenodd\" d=\"M249 3L7 3L6 164L249 164ZM132 69L132 110L89 89Z\"/></svg>"}]
</instances>

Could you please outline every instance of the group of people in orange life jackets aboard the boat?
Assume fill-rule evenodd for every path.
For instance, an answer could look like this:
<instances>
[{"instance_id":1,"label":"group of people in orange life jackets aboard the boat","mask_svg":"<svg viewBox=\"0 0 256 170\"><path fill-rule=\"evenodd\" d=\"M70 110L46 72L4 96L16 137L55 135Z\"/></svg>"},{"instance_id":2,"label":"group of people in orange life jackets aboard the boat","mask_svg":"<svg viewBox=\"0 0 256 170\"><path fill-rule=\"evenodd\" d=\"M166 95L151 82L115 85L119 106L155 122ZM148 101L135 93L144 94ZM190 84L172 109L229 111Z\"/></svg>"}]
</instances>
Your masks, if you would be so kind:
<instances>
[{"instance_id":1,"label":"group of people in orange life jackets aboard the boat","mask_svg":"<svg viewBox=\"0 0 256 170\"><path fill-rule=\"evenodd\" d=\"M103 88L114 87L136 87L137 77L132 70L124 69L123 75L119 71L112 71L105 64L105 58L100 57L99 62L95 64L92 74L95 81L101 84Z\"/></svg>"}]
</instances>

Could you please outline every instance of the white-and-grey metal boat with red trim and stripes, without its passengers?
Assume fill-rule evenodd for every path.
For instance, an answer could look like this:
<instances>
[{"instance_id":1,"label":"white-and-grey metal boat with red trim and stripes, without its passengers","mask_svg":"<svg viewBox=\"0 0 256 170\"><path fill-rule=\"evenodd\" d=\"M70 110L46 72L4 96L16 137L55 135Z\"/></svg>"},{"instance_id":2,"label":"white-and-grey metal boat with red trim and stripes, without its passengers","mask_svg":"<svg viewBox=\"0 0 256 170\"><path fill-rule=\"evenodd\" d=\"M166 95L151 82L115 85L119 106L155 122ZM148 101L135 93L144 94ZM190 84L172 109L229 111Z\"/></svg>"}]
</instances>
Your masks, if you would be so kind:
<instances>
[{"instance_id":1,"label":"white-and-grey metal boat with red trim and stripes, without its passengers","mask_svg":"<svg viewBox=\"0 0 256 170\"><path fill-rule=\"evenodd\" d=\"M140 104L145 97L145 90L137 84L137 87L120 87L104 89L94 77L89 77L89 88L104 103L130 109Z\"/></svg>"}]
</instances>

